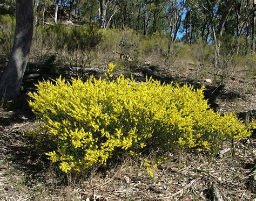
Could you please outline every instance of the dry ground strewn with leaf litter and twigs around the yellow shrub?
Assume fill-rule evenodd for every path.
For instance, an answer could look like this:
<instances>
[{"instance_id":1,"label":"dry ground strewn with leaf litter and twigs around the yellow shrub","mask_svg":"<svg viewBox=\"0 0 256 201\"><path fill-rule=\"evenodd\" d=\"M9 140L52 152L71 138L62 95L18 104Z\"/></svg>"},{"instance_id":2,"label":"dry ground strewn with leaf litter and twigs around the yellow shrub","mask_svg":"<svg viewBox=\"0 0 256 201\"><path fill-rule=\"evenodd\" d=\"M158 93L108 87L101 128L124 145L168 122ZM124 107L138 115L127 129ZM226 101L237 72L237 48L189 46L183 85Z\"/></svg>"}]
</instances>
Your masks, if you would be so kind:
<instances>
[{"instance_id":1,"label":"dry ground strewn with leaf litter and twigs around the yellow shrub","mask_svg":"<svg viewBox=\"0 0 256 201\"><path fill-rule=\"evenodd\" d=\"M191 70L192 69L192 70ZM228 80L223 87L211 74L197 69L153 69L154 75L172 78L196 87L206 85L206 96L215 110L240 112L255 118L254 78ZM175 73L176 72L176 73ZM134 73L143 75L142 71ZM210 79L211 82L208 80ZM25 96L24 96L25 97ZM209 153L169 153L151 178L140 159L124 156L107 167L93 167L85 173L65 175L46 160L36 142L26 133L36 127L36 119L25 98L17 108L0 109L0 199L2 200L253 200L256 197L256 135L241 139L235 156L228 150L222 157ZM155 160L152 152L147 159ZM146 156L145 156L146 159ZM254 193L253 193L254 192ZM88 199L87 199L88 200Z\"/></svg>"}]
</instances>

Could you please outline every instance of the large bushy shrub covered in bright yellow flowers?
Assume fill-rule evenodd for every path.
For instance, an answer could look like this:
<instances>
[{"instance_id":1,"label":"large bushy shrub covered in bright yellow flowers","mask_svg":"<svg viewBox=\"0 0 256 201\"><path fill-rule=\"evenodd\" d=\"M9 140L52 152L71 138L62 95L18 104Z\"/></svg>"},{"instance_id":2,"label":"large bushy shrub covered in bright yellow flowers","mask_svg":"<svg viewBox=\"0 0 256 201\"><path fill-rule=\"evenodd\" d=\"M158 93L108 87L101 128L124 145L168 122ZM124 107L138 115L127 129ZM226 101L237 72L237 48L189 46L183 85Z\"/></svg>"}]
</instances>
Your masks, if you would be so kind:
<instances>
[{"instance_id":1,"label":"large bushy shrub covered in bright yellow flowers","mask_svg":"<svg viewBox=\"0 0 256 201\"><path fill-rule=\"evenodd\" d=\"M67 173L105 164L126 151L140 153L146 147L211 150L218 142L250 135L249 127L234 114L221 116L211 110L203 91L152 79L137 84L124 76L117 80L91 77L72 84L59 78L39 82L36 92L29 93L29 104L47 131L35 137L53 143L46 155Z\"/></svg>"}]
</instances>

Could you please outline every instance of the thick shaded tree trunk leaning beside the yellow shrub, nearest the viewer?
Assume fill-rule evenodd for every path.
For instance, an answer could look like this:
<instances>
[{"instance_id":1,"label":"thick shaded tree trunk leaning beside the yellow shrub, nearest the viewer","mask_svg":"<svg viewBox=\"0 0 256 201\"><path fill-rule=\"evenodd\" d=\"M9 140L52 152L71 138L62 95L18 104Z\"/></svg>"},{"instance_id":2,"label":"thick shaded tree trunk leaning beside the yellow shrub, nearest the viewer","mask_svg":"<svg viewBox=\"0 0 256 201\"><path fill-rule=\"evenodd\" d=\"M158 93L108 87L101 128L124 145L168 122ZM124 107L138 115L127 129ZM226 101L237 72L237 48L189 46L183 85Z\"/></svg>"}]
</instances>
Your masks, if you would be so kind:
<instances>
[{"instance_id":1,"label":"thick shaded tree trunk leaning beside the yellow shrub, nearest the viewer","mask_svg":"<svg viewBox=\"0 0 256 201\"><path fill-rule=\"evenodd\" d=\"M33 0L16 0L16 29L11 56L0 82L0 99L4 102L19 94L28 62L33 35Z\"/></svg>"}]
</instances>

